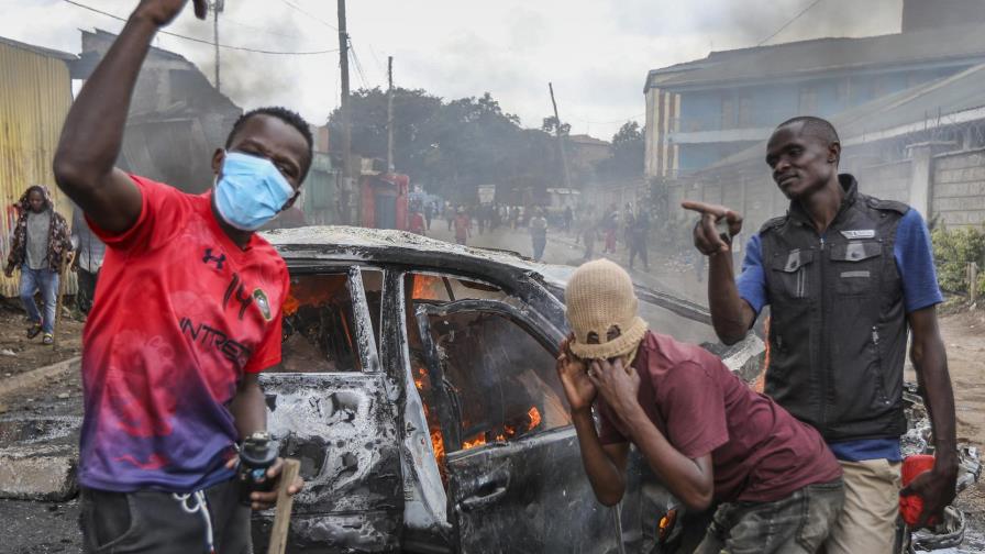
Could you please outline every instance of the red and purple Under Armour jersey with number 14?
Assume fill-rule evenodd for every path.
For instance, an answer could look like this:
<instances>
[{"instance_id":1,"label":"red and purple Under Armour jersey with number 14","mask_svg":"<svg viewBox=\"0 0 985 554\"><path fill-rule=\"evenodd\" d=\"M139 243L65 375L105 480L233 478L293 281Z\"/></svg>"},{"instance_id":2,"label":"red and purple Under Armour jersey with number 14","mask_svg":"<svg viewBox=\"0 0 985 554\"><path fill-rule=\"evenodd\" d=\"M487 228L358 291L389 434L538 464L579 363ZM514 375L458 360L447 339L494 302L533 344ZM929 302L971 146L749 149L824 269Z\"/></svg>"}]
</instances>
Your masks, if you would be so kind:
<instances>
[{"instance_id":1,"label":"red and purple Under Armour jersey with number 14","mask_svg":"<svg viewBox=\"0 0 985 554\"><path fill-rule=\"evenodd\" d=\"M79 483L197 490L231 476L239 379L280 362L287 266L256 234L236 246L211 192L133 180L132 229L89 222L108 247L82 337Z\"/></svg>"}]
</instances>

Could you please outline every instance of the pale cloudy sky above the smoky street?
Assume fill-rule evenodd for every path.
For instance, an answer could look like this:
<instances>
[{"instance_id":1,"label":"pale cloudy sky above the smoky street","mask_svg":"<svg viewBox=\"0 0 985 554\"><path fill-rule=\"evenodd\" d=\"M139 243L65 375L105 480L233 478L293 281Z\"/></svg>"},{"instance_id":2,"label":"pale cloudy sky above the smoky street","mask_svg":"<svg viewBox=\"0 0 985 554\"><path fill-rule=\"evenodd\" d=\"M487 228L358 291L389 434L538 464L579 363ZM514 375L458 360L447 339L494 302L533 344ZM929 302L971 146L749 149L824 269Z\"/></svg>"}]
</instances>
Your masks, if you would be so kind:
<instances>
[{"instance_id":1,"label":"pale cloudy sky above the smoky street","mask_svg":"<svg viewBox=\"0 0 985 554\"><path fill-rule=\"evenodd\" d=\"M135 0L77 0L125 16ZM339 45L332 0L226 0L220 43L311 52ZM859 7L865 5L864 18ZM789 23L806 8L810 9ZM901 0L351 0L357 64L352 87L385 87L387 56L397 85L446 99L489 91L527 126L551 112L554 82L574 133L609 138L642 123L646 71L712 49L819 36L899 31ZM0 0L0 36L77 53L79 29L119 32L122 22L64 0ZM190 8L169 31L211 40L211 21ZM212 78L212 47L159 35ZM354 60L355 62L355 60ZM223 92L243 108L278 103L316 123L339 104L339 55L274 56L222 51Z\"/></svg>"}]
</instances>

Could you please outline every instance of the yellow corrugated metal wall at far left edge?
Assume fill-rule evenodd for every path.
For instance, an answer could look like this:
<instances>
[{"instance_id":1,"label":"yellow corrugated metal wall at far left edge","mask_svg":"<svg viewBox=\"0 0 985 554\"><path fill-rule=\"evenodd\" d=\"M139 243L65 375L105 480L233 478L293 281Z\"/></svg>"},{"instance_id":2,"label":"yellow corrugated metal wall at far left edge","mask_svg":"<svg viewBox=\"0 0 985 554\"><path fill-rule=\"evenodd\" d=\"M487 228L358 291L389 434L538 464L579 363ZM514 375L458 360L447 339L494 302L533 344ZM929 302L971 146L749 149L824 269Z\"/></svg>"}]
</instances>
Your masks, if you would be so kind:
<instances>
[{"instance_id":1,"label":"yellow corrugated metal wall at far left edge","mask_svg":"<svg viewBox=\"0 0 985 554\"><path fill-rule=\"evenodd\" d=\"M0 43L0 255L7 263L16 222L12 204L31 185L55 193L59 213L71 222L71 204L55 187L52 157L71 104L71 79L64 60ZM75 279L69 287L74 290ZM0 295L16 296L18 274L0 273Z\"/></svg>"}]
</instances>

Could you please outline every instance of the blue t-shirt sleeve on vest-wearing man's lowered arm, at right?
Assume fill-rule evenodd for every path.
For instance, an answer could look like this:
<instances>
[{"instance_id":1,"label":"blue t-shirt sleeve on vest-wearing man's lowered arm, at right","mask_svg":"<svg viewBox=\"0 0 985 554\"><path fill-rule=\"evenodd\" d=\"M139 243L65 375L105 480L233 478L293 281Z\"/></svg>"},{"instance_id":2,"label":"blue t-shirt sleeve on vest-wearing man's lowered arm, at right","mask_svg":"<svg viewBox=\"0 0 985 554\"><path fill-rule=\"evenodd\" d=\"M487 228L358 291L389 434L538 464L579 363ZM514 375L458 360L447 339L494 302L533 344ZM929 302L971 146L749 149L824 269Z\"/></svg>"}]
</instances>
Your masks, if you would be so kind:
<instances>
[{"instance_id":1,"label":"blue t-shirt sleeve on vest-wearing man's lowered arm, at right","mask_svg":"<svg viewBox=\"0 0 985 554\"><path fill-rule=\"evenodd\" d=\"M907 313L944 300L937 282L930 232L917 210L910 209L899 220L893 255L903 279L903 301Z\"/></svg>"}]
</instances>

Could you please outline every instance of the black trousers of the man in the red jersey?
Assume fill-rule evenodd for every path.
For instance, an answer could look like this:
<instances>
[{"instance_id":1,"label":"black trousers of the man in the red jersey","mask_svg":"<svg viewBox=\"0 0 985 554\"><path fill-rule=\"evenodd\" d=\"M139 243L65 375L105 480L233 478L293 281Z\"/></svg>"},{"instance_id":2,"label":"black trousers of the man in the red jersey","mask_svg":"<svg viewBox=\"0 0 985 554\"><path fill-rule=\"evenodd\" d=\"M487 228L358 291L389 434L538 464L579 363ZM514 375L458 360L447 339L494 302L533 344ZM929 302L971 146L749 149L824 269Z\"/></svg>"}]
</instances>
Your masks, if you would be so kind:
<instances>
[{"instance_id":1,"label":"black trousers of the man in the red jersey","mask_svg":"<svg viewBox=\"0 0 985 554\"><path fill-rule=\"evenodd\" d=\"M235 481L207 489L204 498L207 511L196 509L193 495L179 501L157 490L109 492L84 487L79 513L84 552L208 554L208 513L217 553L252 553L250 507L239 503Z\"/></svg>"}]
</instances>

